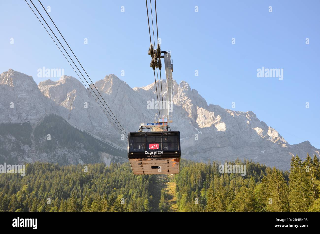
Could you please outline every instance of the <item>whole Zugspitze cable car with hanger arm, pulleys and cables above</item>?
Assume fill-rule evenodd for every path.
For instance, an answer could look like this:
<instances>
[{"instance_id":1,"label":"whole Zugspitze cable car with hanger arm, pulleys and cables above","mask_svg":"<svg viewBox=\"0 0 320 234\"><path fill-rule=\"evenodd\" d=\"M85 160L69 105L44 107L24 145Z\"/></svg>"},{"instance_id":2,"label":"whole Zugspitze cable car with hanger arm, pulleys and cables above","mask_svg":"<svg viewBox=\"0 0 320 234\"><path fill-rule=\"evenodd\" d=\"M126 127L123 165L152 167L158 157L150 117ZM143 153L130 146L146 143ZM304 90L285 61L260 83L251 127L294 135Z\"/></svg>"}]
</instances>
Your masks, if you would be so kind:
<instances>
[{"instance_id":1,"label":"whole Zugspitze cable car with hanger arm, pulleys and cables above","mask_svg":"<svg viewBox=\"0 0 320 234\"><path fill-rule=\"evenodd\" d=\"M151 3L150 3L151 4ZM173 78L172 78L172 60L170 51L161 51L158 38L157 25L157 47L151 41L148 3L146 1L150 47L148 54L151 56L150 67L153 69L155 78L155 88L157 96L158 113L153 122L140 123L138 132L129 132L128 136L128 158L134 175L153 175L153 174L179 174L180 168L180 132L171 131L168 124L172 123L172 96L173 96ZM151 8L151 6L150 6ZM156 9L156 2L155 2ZM151 10L152 13L152 10ZM152 17L152 14L151 14ZM152 23L153 30L153 23ZM154 41L155 43L155 41ZM156 43L155 43L156 45ZM163 55L162 55L163 53ZM166 95L164 98L162 90L161 58L164 58L164 70L166 74ZM158 79L158 88L156 83L155 69L160 72L161 95ZM158 97L159 90L159 97ZM165 101L163 100L165 99ZM160 100L160 102L159 102ZM160 111L161 109L161 111ZM158 117L158 120L157 120ZM150 132L143 132L143 129L151 129ZM169 131L170 129L170 131Z\"/></svg>"}]
</instances>

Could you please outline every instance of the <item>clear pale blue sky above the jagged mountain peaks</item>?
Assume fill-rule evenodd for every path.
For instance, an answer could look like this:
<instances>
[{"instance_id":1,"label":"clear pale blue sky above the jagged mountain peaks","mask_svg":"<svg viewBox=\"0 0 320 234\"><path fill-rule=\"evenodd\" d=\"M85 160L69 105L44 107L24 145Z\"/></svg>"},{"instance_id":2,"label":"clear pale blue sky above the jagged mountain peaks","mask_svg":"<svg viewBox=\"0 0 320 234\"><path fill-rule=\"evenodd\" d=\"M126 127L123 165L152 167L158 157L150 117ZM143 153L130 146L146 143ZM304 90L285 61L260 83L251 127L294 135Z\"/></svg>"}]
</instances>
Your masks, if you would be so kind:
<instances>
[{"instance_id":1,"label":"clear pale blue sky above the jagged mountain peaks","mask_svg":"<svg viewBox=\"0 0 320 234\"><path fill-rule=\"evenodd\" d=\"M145 1L42 3L51 7L49 14L93 82L110 73L131 87L153 81ZM269 6L273 12L268 12ZM316 148L319 12L318 0L157 1L161 49L172 52L178 83L188 82L208 103L232 109L235 102L233 110L253 111L290 144L309 140ZM37 77L37 69L45 66L64 68L65 74L76 77L23 0L0 2L0 32L0 72L12 68L38 83L47 79ZM232 38L236 44L231 44ZM284 79L257 78L262 66L283 68Z\"/></svg>"}]
</instances>

